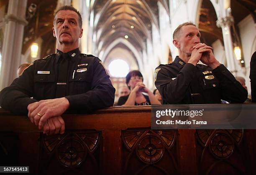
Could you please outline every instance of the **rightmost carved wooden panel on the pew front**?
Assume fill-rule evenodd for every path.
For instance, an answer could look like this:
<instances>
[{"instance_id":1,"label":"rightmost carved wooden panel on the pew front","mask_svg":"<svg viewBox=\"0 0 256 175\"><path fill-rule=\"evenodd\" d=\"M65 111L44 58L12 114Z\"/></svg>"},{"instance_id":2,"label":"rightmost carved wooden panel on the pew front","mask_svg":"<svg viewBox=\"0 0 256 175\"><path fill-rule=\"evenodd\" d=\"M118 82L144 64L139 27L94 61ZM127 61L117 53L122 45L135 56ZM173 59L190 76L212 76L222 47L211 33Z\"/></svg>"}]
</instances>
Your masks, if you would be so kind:
<instances>
[{"instance_id":1,"label":"rightmost carved wooden panel on the pew front","mask_svg":"<svg viewBox=\"0 0 256 175\"><path fill-rule=\"evenodd\" d=\"M243 130L197 130L200 175L247 174Z\"/></svg>"}]
</instances>

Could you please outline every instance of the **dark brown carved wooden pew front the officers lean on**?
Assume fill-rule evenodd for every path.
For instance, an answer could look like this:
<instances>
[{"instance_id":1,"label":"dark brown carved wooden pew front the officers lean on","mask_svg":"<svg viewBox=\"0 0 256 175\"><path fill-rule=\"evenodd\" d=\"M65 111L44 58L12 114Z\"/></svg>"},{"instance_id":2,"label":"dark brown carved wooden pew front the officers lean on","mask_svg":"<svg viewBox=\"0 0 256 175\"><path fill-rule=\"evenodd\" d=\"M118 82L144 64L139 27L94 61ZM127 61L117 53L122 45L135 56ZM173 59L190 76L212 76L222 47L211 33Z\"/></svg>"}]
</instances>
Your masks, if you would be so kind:
<instances>
[{"instance_id":1,"label":"dark brown carved wooden pew front the officers lean on","mask_svg":"<svg viewBox=\"0 0 256 175\"><path fill-rule=\"evenodd\" d=\"M151 106L63 118L63 135L44 135L0 109L0 165L42 175L256 174L255 130L151 130Z\"/></svg>"}]
</instances>

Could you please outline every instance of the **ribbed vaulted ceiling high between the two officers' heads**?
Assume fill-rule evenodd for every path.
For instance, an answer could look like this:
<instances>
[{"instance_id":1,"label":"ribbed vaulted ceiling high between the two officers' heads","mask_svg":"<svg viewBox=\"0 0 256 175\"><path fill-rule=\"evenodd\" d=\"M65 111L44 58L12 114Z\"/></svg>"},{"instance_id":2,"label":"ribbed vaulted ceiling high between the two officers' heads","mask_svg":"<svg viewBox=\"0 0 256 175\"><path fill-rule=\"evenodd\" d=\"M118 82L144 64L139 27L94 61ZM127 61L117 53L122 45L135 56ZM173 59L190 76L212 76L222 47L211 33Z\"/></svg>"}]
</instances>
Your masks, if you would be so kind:
<instances>
[{"instance_id":1,"label":"ribbed vaulted ceiling high between the two officers' heads","mask_svg":"<svg viewBox=\"0 0 256 175\"><path fill-rule=\"evenodd\" d=\"M152 25L159 30L161 3L169 13L169 0L95 0L90 7L97 52L104 52L120 37L128 40L138 52L146 49L146 40L152 42ZM117 44L115 47L120 47ZM129 49L129 48L127 48ZM138 59L138 58L136 58Z\"/></svg>"}]
</instances>

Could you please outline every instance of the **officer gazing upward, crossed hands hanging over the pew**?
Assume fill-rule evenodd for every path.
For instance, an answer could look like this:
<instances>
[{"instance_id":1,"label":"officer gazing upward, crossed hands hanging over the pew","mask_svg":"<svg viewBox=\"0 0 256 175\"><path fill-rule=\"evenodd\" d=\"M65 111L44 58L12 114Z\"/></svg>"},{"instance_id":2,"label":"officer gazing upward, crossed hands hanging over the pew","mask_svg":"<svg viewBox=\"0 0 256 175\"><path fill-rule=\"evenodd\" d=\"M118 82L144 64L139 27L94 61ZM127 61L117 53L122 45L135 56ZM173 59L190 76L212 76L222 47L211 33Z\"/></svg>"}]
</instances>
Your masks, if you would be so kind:
<instances>
[{"instance_id":1,"label":"officer gazing upward, crossed hands hanging over the pew","mask_svg":"<svg viewBox=\"0 0 256 175\"><path fill-rule=\"evenodd\" d=\"M113 105L115 88L97 57L80 53L82 18L72 6L57 10L53 35L57 52L34 61L10 87L0 92L0 105L28 115L44 133L64 133L64 112L91 112ZM33 97L33 98L31 98Z\"/></svg>"}]
</instances>

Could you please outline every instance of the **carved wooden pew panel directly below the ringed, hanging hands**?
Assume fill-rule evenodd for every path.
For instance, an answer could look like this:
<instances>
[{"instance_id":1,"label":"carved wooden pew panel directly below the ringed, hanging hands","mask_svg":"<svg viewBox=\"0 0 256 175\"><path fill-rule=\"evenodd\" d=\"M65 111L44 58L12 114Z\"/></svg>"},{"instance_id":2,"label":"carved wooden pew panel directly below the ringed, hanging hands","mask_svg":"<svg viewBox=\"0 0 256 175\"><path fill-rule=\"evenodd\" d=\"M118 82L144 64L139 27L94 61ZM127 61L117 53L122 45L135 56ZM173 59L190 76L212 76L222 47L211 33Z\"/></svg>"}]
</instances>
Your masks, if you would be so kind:
<instances>
[{"instance_id":1,"label":"carved wooden pew panel directly below the ringed, hanging hands","mask_svg":"<svg viewBox=\"0 0 256 175\"><path fill-rule=\"evenodd\" d=\"M101 174L100 131L41 135L40 174Z\"/></svg>"}]
</instances>

